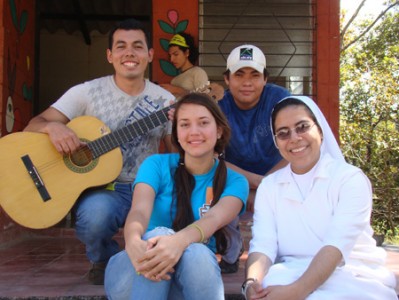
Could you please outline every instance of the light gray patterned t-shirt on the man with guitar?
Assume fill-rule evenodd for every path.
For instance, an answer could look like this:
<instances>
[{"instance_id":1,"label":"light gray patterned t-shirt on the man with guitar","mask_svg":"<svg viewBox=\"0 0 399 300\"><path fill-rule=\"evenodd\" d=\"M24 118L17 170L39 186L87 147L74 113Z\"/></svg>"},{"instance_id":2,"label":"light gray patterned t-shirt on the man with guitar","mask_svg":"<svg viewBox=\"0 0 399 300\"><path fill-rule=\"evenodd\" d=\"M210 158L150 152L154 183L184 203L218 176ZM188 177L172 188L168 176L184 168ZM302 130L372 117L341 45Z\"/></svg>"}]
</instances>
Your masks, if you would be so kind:
<instances>
[{"instance_id":1,"label":"light gray patterned t-shirt on the man with guitar","mask_svg":"<svg viewBox=\"0 0 399 300\"><path fill-rule=\"evenodd\" d=\"M140 95L130 96L110 75L70 88L52 107L70 120L84 115L96 117L114 131L168 106L173 99L171 93L149 80ZM117 181L134 181L141 162L158 153L161 139L170 132L171 124L167 122L121 145L123 168Z\"/></svg>"}]
</instances>

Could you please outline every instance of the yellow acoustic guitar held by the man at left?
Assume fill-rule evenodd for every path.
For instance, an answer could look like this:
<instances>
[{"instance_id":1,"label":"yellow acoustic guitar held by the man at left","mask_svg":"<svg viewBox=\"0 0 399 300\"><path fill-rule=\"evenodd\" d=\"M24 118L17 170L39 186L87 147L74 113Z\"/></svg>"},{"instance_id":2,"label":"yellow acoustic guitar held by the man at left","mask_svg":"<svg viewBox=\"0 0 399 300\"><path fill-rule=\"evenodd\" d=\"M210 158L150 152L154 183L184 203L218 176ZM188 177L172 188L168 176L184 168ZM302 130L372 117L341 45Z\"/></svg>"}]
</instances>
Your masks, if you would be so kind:
<instances>
[{"instance_id":1,"label":"yellow acoustic guitar held by the man at left","mask_svg":"<svg viewBox=\"0 0 399 300\"><path fill-rule=\"evenodd\" d=\"M208 93L220 99L220 88ZM223 88L222 88L223 89ZM62 156L47 134L16 132L0 138L0 205L18 224L43 229L60 222L79 195L90 187L112 182L122 169L119 146L168 121L165 107L115 131L100 120L82 116L70 121L86 146Z\"/></svg>"}]
</instances>

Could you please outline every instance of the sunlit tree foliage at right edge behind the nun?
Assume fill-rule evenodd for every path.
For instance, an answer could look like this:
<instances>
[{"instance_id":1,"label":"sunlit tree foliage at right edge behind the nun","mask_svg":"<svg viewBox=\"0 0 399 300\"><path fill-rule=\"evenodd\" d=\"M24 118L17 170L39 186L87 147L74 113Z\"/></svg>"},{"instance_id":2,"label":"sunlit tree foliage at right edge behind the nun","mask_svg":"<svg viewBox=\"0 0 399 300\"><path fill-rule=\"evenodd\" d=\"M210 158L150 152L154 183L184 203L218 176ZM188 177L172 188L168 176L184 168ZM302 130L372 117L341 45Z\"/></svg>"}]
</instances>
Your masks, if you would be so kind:
<instances>
[{"instance_id":1,"label":"sunlit tree foliage at right edge behind the nun","mask_svg":"<svg viewBox=\"0 0 399 300\"><path fill-rule=\"evenodd\" d=\"M348 30L346 39L370 24ZM340 140L348 162L373 185L372 224L399 228L399 12L393 10L341 56Z\"/></svg>"}]
</instances>

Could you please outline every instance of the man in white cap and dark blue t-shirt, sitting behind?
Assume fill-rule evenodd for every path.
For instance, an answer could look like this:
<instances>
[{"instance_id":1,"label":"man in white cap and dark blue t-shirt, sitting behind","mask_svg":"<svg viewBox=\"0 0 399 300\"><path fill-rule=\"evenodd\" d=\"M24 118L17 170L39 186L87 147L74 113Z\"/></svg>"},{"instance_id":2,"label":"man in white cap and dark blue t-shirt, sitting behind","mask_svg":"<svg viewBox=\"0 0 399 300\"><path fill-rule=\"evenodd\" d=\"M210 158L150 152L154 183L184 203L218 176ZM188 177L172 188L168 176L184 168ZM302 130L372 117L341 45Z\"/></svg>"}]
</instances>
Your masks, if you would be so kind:
<instances>
[{"instance_id":1,"label":"man in white cap and dark blue t-shirt, sitting behind","mask_svg":"<svg viewBox=\"0 0 399 300\"><path fill-rule=\"evenodd\" d=\"M254 45L241 45L231 51L224 73L228 89L218 103L232 129L226 161L250 184L249 211L253 211L255 190L263 177L287 164L274 147L269 120L274 105L290 93L283 87L267 83L267 79L266 57L262 50ZM223 273L238 270L242 253L238 222L236 218L229 226L229 255L220 262Z\"/></svg>"}]
</instances>

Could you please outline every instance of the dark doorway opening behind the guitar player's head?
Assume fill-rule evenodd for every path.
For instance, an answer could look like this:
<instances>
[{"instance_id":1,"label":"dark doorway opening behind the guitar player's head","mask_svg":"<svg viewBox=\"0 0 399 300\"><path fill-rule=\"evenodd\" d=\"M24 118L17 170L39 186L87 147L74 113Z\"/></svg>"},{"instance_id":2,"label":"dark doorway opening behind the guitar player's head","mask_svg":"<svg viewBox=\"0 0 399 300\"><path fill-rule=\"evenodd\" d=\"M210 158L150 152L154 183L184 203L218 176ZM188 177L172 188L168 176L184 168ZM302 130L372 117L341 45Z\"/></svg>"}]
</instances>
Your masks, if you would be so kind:
<instances>
[{"instance_id":1,"label":"dark doorway opening behind the guitar player's head","mask_svg":"<svg viewBox=\"0 0 399 300\"><path fill-rule=\"evenodd\" d=\"M112 72L108 32L134 17L151 29L151 1L37 0L36 102L38 114L71 86Z\"/></svg>"}]
</instances>

